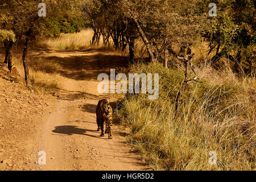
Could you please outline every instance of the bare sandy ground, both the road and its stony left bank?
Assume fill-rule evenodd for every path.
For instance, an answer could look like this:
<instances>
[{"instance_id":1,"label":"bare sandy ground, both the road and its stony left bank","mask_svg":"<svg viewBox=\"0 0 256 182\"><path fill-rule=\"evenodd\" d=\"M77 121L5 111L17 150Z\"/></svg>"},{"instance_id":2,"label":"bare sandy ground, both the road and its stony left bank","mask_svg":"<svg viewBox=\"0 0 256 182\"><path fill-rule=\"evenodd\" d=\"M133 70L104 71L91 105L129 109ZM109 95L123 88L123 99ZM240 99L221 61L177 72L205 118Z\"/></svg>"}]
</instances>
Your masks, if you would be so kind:
<instances>
[{"instance_id":1,"label":"bare sandy ground, both the road and its stony left bank","mask_svg":"<svg viewBox=\"0 0 256 182\"><path fill-rule=\"evenodd\" d=\"M61 65L64 80L57 96L39 97L26 91L19 109L17 104L6 102L0 89L0 169L3 170L145 170L149 169L141 157L131 150L120 131L114 125L113 139L99 137L96 124L97 100L112 95L99 94L97 76L109 74L110 68L121 71L126 62L121 56L101 52L36 52L33 57L44 57ZM16 91L5 82L10 95ZM1 82L1 84L3 83ZM15 84L16 90L24 90ZM5 89L6 90L6 89ZM17 91L18 92L18 91ZM19 91L20 92L20 91ZM23 92L23 91L22 91ZM25 94L25 93L22 93ZM13 94L12 97L16 97ZM31 95L31 96L30 96ZM8 101L11 98L8 99ZM33 102L31 102L31 100ZM26 104L23 104L23 102ZM10 110L14 107L14 110ZM10 112L4 114L3 108ZM35 113L35 112L38 113ZM43 114L42 114L43 113ZM7 117L9 115L9 117ZM27 117L27 118L26 118ZM13 118L13 119L12 119ZM10 121L9 121L10 120ZM11 124L13 122L13 124ZM1 126L2 125L2 126ZM1 128L2 127L2 128ZM15 129L15 127L18 127ZM46 165L38 164L38 152L46 152Z\"/></svg>"}]
</instances>

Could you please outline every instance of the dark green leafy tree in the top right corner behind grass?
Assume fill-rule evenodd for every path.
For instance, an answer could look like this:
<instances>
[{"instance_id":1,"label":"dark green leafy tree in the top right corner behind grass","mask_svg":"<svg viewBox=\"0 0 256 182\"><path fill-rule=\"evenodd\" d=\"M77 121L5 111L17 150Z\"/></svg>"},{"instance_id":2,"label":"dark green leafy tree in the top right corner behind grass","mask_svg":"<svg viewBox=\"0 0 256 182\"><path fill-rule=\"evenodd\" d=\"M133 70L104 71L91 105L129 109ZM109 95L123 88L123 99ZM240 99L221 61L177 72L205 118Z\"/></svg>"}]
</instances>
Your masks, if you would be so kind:
<instances>
[{"instance_id":1,"label":"dark green leafy tree in the top right corner behind grass","mask_svg":"<svg viewBox=\"0 0 256 182\"><path fill-rule=\"evenodd\" d=\"M217 17L212 18L204 38L209 52L215 54L206 61L214 64L222 57L234 63L233 70L253 69L255 62L255 1L217 1ZM224 26L225 25L225 26ZM243 69L243 68L244 69Z\"/></svg>"}]
</instances>

